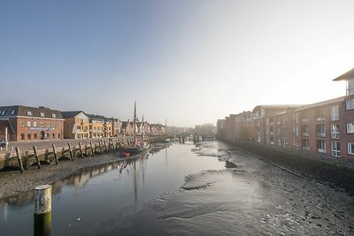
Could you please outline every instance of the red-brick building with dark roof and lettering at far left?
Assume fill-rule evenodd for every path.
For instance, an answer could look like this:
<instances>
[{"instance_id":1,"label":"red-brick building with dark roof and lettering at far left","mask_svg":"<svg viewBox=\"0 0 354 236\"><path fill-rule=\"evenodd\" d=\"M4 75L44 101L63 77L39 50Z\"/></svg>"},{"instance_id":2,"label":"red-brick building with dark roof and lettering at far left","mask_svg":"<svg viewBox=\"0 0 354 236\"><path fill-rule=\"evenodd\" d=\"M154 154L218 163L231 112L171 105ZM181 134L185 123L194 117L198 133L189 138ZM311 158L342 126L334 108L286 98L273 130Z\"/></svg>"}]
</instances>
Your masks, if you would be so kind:
<instances>
[{"instance_id":1,"label":"red-brick building with dark roof and lettering at far left","mask_svg":"<svg viewBox=\"0 0 354 236\"><path fill-rule=\"evenodd\" d=\"M9 141L62 140L64 118L59 110L22 105L0 107L0 140L5 128Z\"/></svg>"}]
</instances>

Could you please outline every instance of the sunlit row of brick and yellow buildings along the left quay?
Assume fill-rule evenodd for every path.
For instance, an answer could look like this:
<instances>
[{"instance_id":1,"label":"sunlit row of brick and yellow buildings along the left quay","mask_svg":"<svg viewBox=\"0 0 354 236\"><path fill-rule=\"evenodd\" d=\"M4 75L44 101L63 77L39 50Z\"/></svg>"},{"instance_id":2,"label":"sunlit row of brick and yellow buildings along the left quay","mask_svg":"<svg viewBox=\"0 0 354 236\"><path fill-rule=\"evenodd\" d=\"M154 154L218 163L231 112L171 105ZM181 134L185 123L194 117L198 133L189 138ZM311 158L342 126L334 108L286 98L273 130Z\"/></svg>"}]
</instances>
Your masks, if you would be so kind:
<instances>
[{"instance_id":1,"label":"sunlit row of brick and yellow buildings along the left quay","mask_svg":"<svg viewBox=\"0 0 354 236\"><path fill-rule=\"evenodd\" d=\"M132 135L133 128L126 132L125 123L119 118L105 118L82 110L60 111L47 107L22 105L0 106L0 141L35 141L111 138L119 134ZM140 126L139 124L142 124ZM139 128L138 128L139 126ZM165 126L140 122L135 126L137 134L162 134Z\"/></svg>"}]
</instances>

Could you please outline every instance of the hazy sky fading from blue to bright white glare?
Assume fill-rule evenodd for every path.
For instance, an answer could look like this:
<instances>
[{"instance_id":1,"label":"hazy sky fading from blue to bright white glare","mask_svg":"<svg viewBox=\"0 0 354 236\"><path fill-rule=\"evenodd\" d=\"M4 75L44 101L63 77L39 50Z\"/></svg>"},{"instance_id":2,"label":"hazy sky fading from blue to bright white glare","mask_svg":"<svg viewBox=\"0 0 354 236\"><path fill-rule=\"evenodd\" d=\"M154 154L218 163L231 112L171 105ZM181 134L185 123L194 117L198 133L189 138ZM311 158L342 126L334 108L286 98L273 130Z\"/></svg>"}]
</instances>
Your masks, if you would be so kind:
<instances>
[{"instance_id":1,"label":"hazy sky fading from blue to bright white glare","mask_svg":"<svg viewBox=\"0 0 354 236\"><path fill-rule=\"evenodd\" d=\"M354 1L0 1L0 105L216 123L345 95Z\"/></svg>"}]
</instances>

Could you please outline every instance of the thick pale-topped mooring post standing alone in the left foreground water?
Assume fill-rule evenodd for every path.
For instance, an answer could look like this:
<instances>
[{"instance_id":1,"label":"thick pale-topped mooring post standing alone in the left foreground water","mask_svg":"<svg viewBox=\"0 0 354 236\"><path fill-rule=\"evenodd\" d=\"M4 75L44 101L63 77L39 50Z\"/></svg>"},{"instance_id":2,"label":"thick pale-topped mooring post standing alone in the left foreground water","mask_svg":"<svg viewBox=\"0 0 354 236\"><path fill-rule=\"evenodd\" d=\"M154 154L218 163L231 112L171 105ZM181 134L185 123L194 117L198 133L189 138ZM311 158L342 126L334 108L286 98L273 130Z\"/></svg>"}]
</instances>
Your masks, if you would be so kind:
<instances>
[{"instance_id":1,"label":"thick pale-topped mooring post standing alone in the left foreground water","mask_svg":"<svg viewBox=\"0 0 354 236\"><path fill-rule=\"evenodd\" d=\"M35 187L34 235L50 235L51 232L51 186Z\"/></svg>"}]
</instances>

